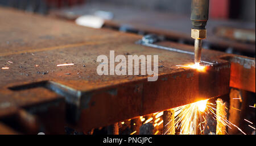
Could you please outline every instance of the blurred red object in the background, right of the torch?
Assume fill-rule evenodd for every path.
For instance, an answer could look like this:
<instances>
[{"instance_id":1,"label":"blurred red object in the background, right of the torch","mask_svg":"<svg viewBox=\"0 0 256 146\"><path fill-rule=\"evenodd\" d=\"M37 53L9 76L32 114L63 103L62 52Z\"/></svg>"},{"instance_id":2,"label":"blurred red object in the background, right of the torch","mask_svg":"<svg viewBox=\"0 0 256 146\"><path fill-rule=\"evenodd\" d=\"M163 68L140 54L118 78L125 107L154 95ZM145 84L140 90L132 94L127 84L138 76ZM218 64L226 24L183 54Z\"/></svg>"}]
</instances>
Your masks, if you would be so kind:
<instances>
[{"instance_id":1,"label":"blurred red object in the background, right of the torch","mask_svg":"<svg viewBox=\"0 0 256 146\"><path fill-rule=\"evenodd\" d=\"M229 18L230 0L210 1L210 18Z\"/></svg>"}]
</instances>

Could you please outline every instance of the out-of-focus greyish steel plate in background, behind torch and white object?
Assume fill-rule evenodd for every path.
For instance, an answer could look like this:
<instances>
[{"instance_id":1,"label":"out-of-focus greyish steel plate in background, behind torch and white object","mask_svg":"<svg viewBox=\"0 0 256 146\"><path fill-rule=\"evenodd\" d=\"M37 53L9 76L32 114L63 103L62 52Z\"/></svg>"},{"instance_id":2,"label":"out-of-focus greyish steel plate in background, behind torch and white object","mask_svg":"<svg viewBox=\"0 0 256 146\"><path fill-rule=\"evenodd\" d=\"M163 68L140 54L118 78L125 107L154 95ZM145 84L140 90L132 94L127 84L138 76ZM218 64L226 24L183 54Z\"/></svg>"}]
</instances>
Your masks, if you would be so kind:
<instances>
[{"instance_id":1,"label":"out-of-focus greyish steel plate in background, behind torch and white object","mask_svg":"<svg viewBox=\"0 0 256 146\"><path fill-rule=\"evenodd\" d=\"M115 28L125 27L128 31L147 32L164 35L170 39L193 42L190 34L191 20L189 19L189 16L186 15L136 10L131 7L98 5L97 3L73 7L72 9L52 11L51 15L74 20L81 15L95 15L97 11L106 11L113 14L113 19L105 20L105 26ZM223 37L216 35L214 33L215 28L222 26L255 31L255 23L210 19L208 20L206 27L207 39L204 40L206 44L213 45L214 47L217 46L219 49L231 47L238 51L255 54L255 43L242 43L239 39L223 39Z\"/></svg>"}]
</instances>

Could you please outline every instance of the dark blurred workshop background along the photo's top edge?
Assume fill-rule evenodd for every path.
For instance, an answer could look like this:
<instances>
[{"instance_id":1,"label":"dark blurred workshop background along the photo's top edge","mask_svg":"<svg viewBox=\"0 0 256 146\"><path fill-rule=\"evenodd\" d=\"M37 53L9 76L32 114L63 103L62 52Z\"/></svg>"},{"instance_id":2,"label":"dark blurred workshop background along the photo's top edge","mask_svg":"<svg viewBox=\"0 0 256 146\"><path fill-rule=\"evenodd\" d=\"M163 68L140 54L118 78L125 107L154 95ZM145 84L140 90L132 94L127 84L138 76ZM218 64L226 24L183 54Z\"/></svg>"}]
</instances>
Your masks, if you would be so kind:
<instances>
[{"instance_id":1,"label":"dark blurred workshop background along the photo's top edge","mask_svg":"<svg viewBox=\"0 0 256 146\"><path fill-rule=\"evenodd\" d=\"M111 4L133 9L190 14L190 0L0 0L0 5L24 11L48 14L50 10L67 8L86 3ZM211 0L210 18L237 19L255 22L254 0Z\"/></svg>"}]
</instances>

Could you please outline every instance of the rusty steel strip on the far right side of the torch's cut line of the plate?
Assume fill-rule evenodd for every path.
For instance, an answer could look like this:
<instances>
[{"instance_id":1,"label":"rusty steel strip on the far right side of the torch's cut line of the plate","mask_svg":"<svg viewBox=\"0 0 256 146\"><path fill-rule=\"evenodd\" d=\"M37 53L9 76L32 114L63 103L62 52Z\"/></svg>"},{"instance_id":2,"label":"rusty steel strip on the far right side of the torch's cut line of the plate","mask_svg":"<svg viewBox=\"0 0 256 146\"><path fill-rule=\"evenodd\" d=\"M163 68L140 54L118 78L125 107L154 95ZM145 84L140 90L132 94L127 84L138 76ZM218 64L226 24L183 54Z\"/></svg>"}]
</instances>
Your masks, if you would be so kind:
<instances>
[{"instance_id":1,"label":"rusty steel strip on the far right side of the torch's cut line of the plate","mask_svg":"<svg viewBox=\"0 0 256 146\"><path fill-rule=\"evenodd\" d=\"M193 47L188 45L171 43L170 41L162 41L157 44L193 52ZM203 49L201 60L208 62L210 62L209 60L214 60L214 62L228 60L231 65L230 87L255 93L255 58Z\"/></svg>"}]
</instances>

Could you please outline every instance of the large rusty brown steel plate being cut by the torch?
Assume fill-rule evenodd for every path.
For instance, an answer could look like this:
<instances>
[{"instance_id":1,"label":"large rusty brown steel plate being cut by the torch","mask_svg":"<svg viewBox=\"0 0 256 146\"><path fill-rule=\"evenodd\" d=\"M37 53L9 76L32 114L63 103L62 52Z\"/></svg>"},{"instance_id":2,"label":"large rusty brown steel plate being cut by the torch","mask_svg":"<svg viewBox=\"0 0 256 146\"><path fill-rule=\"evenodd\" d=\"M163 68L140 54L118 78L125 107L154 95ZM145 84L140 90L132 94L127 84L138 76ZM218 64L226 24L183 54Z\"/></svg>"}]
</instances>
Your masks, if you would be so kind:
<instances>
[{"instance_id":1,"label":"large rusty brown steel plate being cut by the torch","mask_svg":"<svg viewBox=\"0 0 256 146\"><path fill-rule=\"evenodd\" d=\"M229 93L230 62L219 52L210 52L207 61L215 62L198 72L176 66L191 64L193 55L136 44L139 35L2 8L0 19L0 65L9 68L0 69L0 120L24 109L51 128L49 123L62 120L64 126L67 119L87 131ZM99 76L97 56L109 57L110 50L115 56L158 55L158 80ZM74 65L57 66L65 63Z\"/></svg>"}]
</instances>

